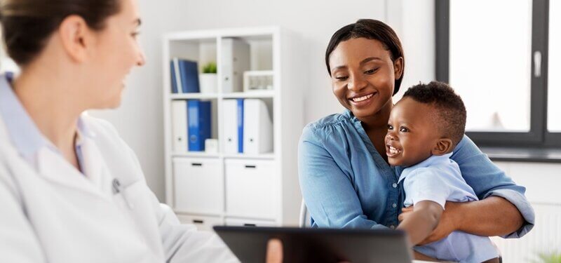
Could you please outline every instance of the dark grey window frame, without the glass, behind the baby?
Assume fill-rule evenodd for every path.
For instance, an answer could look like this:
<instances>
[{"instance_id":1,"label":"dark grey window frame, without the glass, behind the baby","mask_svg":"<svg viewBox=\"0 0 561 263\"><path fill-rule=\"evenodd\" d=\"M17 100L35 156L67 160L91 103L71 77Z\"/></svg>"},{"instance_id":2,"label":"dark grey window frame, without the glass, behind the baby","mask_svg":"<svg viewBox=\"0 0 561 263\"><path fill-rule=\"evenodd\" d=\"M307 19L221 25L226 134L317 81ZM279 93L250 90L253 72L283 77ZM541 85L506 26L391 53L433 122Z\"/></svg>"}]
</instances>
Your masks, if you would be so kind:
<instances>
[{"instance_id":1,"label":"dark grey window frame, without the glass, behind the baby","mask_svg":"<svg viewBox=\"0 0 561 263\"><path fill-rule=\"evenodd\" d=\"M561 147L561 133L550 133L548 120L548 27L549 0L532 0L532 66L530 130L528 132L473 132L466 134L486 147ZM449 82L450 0L435 1L436 79ZM534 75L534 53L541 52L540 76Z\"/></svg>"}]
</instances>

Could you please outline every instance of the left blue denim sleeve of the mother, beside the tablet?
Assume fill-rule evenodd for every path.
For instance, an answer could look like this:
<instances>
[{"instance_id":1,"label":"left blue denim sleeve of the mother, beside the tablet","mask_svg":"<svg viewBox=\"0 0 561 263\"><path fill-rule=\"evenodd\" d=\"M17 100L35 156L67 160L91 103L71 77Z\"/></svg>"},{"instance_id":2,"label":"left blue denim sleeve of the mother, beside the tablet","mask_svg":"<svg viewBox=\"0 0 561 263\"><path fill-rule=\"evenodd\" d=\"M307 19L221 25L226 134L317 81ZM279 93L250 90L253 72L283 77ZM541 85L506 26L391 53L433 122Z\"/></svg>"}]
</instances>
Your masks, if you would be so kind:
<instances>
[{"instance_id":1,"label":"left blue denim sleeve of the mother, beside the tablet","mask_svg":"<svg viewBox=\"0 0 561 263\"><path fill-rule=\"evenodd\" d=\"M364 215L351 179L310 126L300 138L298 172L302 196L319 227L385 228Z\"/></svg>"}]
</instances>

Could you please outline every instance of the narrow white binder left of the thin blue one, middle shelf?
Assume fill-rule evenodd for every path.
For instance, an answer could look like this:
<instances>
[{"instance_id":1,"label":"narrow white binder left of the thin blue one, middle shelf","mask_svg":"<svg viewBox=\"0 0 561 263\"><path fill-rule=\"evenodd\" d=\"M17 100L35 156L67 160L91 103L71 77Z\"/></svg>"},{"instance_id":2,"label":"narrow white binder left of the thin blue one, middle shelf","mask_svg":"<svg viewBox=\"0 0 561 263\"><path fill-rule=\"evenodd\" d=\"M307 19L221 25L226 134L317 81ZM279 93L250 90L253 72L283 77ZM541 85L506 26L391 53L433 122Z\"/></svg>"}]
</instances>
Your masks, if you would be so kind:
<instances>
[{"instance_id":1,"label":"narrow white binder left of the thin blue one, middle shelf","mask_svg":"<svg viewBox=\"0 0 561 263\"><path fill-rule=\"evenodd\" d=\"M238 153L238 101L224 100L224 136L222 136L222 149L224 154Z\"/></svg>"}]
</instances>

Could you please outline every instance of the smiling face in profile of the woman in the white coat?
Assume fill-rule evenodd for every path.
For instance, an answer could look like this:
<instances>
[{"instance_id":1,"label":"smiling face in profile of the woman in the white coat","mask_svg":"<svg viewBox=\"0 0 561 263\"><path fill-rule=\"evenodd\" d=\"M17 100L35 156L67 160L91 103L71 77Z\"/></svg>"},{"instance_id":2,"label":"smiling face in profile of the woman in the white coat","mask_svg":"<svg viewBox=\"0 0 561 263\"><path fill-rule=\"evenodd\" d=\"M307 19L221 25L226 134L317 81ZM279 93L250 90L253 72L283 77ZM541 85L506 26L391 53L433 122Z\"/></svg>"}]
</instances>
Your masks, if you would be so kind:
<instances>
[{"instance_id":1,"label":"smiling face in profile of the woman in the white coat","mask_svg":"<svg viewBox=\"0 0 561 263\"><path fill-rule=\"evenodd\" d=\"M121 11L105 21L105 27L95 32L93 53L88 67L94 85L88 93L95 108L114 108L121 102L125 78L136 65L144 65L144 54L137 43L140 25L136 0L119 0Z\"/></svg>"}]
</instances>

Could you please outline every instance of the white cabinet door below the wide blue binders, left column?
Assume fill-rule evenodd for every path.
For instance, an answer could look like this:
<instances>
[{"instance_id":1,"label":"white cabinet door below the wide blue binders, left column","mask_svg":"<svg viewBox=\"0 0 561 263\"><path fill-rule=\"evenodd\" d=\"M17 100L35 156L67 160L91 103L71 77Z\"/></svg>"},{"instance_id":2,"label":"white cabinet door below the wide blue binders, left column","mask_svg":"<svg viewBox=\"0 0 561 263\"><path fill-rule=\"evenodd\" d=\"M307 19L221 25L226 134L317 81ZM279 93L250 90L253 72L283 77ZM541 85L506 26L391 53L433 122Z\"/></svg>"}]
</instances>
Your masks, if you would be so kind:
<instances>
[{"instance_id":1,"label":"white cabinet door below the wide blue binders, left column","mask_svg":"<svg viewBox=\"0 0 561 263\"><path fill-rule=\"evenodd\" d=\"M220 215L224 180L219 159L174 158L175 210Z\"/></svg>"}]
</instances>

